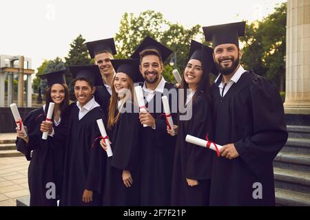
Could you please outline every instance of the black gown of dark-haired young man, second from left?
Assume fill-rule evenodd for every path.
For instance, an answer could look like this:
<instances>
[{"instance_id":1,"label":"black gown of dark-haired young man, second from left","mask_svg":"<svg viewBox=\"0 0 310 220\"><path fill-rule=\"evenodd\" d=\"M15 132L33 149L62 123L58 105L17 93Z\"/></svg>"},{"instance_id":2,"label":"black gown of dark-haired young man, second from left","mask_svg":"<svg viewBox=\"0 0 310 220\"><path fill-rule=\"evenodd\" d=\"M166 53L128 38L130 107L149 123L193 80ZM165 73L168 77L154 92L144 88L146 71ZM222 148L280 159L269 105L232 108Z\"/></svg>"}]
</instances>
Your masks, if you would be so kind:
<instances>
[{"instance_id":1,"label":"black gown of dark-haired young man, second from left","mask_svg":"<svg viewBox=\"0 0 310 220\"><path fill-rule=\"evenodd\" d=\"M79 120L76 102L68 108L68 140L60 206L101 206L106 153L99 139L96 140L101 136L96 120L103 118L105 121L103 110L95 107ZM85 189L93 191L90 203L82 201Z\"/></svg>"}]
</instances>

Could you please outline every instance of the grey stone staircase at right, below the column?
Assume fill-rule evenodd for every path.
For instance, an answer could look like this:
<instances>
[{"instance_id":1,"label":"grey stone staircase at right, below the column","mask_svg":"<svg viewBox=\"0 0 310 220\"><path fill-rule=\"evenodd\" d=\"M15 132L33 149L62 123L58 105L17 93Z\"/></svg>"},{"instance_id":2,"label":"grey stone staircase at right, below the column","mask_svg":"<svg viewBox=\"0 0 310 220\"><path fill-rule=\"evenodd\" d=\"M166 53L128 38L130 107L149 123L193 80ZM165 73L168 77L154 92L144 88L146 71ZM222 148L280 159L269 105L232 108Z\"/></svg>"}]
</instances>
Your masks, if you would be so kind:
<instances>
[{"instance_id":1,"label":"grey stone staircase at right, below the column","mask_svg":"<svg viewBox=\"0 0 310 220\"><path fill-rule=\"evenodd\" d=\"M289 139L273 160L277 206L310 206L310 126L287 125Z\"/></svg>"}]
</instances>

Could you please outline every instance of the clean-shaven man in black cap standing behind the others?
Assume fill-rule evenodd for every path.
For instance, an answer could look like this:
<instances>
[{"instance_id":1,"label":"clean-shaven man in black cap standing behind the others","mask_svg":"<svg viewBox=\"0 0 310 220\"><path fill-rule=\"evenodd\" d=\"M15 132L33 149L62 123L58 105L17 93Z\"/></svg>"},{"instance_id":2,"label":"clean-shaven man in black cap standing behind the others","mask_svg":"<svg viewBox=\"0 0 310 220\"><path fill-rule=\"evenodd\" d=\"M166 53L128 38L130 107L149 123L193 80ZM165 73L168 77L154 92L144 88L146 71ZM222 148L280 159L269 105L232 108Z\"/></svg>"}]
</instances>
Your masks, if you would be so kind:
<instances>
[{"instance_id":1,"label":"clean-shaven man in black cap standing behind the others","mask_svg":"<svg viewBox=\"0 0 310 220\"><path fill-rule=\"evenodd\" d=\"M90 57L94 58L95 64L99 66L104 84L103 86L96 86L94 98L107 115L112 94L111 83L115 74L111 63L113 55L116 54L114 39L91 41L87 42L86 45Z\"/></svg>"}]
</instances>

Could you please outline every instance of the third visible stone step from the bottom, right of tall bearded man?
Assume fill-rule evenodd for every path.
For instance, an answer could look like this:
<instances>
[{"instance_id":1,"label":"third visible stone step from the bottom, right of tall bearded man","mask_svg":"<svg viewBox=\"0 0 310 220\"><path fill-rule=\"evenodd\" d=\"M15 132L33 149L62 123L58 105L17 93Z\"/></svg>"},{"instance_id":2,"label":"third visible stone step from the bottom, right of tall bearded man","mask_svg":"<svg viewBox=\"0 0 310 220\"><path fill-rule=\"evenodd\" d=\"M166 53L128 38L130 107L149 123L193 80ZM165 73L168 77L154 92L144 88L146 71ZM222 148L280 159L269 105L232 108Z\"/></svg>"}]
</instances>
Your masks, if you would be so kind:
<instances>
[{"instance_id":1,"label":"third visible stone step from the bottom, right of tall bearded man","mask_svg":"<svg viewBox=\"0 0 310 220\"><path fill-rule=\"evenodd\" d=\"M274 161L310 166L310 154L287 153L280 151L278 155L276 155Z\"/></svg>"}]
</instances>

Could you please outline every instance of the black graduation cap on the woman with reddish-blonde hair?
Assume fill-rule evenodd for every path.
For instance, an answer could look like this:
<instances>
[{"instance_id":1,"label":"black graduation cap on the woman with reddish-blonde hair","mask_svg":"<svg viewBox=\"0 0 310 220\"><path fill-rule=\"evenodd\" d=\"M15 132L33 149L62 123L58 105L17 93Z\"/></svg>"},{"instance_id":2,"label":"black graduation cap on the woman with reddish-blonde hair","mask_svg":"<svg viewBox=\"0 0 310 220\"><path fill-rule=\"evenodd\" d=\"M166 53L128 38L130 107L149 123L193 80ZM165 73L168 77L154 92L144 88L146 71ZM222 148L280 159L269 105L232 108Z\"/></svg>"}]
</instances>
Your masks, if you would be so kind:
<instances>
[{"instance_id":1,"label":"black graduation cap on the woman with reddish-blonde hair","mask_svg":"<svg viewBox=\"0 0 310 220\"><path fill-rule=\"evenodd\" d=\"M138 59L116 59L111 60L115 69L115 73L122 72L127 74L134 83L143 82L144 79L140 74L139 60Z\"/></svg>"}]
</instances>

